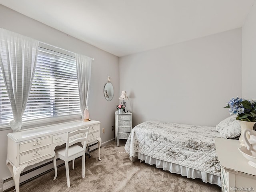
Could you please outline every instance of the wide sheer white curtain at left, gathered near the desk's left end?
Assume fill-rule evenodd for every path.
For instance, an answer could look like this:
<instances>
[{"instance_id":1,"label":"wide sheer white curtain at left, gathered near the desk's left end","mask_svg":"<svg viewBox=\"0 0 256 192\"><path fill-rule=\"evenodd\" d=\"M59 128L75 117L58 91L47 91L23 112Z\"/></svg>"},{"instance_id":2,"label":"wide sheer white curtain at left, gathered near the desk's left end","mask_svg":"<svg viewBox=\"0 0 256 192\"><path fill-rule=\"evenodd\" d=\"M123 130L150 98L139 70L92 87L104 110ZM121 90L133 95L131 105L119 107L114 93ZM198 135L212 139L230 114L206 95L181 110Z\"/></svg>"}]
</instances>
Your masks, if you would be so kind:
<instances>
[{"instance_id":1,"label":"wide sheer white curtain at left, gathered near the desk's left end","mask_svg":"<svg viewBox=\"0 0 256 192\"><path fill-rule=\"evenodd\" d=\"M38 54L37 40L0 28L0 67L12 106L10 126L21 129Z\"/></svg>"}]
</instances>

